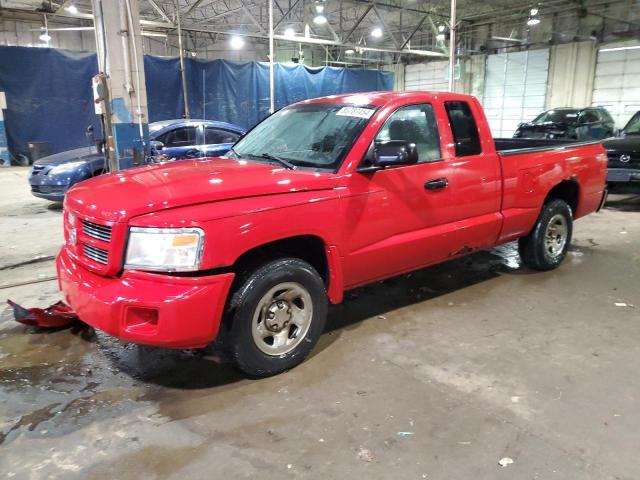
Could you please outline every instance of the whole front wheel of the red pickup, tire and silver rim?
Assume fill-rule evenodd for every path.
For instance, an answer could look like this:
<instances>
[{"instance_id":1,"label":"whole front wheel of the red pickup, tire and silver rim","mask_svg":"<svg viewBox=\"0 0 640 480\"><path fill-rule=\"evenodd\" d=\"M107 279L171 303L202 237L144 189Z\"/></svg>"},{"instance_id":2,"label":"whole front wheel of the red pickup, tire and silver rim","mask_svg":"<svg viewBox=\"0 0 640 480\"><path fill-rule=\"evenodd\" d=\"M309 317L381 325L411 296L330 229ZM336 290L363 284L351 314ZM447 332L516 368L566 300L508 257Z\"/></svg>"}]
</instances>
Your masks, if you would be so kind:
<instances>
[{"instance_id":1,"label":"whole front wheel of the red pickup, tire and silver rim","mask_svg":"<svg viewBox=\"0 0 640 480\"><path fill-rule=\"evenodd\" d=\"M274 260L247 275L234 291L224 349L246 374L275 375L309 355L326 316L327 294L316 270L297 258Z\"/></svg>"}]
</instances>

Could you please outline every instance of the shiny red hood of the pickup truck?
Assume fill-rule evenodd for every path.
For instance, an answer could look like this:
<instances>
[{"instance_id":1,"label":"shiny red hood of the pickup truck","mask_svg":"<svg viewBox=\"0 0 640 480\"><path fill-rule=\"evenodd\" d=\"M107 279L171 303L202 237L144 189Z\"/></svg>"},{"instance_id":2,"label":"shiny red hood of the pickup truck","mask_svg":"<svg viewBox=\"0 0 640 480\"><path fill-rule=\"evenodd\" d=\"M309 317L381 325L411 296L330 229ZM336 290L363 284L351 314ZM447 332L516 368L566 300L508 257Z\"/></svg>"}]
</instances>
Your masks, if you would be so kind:
<instances>
[{"instance_id":1,"label":"shiny red hood of the pickup truck","mask_svg":"<svg viewBox=\"0 0 640 480\"><path fill-rule=\"evenodd\" d=\"M246 160L182 160L81 182L69 190L65 206L84 216L125 222L170 208L336 186L337 176L331 173L288 170Z\"/></svg>"}]
</instances>

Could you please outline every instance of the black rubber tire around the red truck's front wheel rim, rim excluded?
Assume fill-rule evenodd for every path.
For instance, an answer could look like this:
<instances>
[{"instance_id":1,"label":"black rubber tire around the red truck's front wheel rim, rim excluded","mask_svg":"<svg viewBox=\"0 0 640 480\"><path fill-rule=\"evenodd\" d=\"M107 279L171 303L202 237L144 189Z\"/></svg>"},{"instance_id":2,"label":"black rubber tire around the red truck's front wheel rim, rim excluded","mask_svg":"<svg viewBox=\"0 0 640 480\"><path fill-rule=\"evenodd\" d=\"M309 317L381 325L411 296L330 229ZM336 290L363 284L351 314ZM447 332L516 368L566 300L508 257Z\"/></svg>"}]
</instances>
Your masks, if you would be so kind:
<instances>
[{"instance_id":1,"label":"black rubber tire around the red truck's front wheel rim, rim excluded","mask_svg":"<svg viewBox=\"0 0 640 480\"><path fill-rule=\"evenodd\" d=\"M280 308L280 306L275 306L278 302L283 303L278 301L278 298L289 294L289 291L285 294L274 293L272 303L270 303L272 307L265 309L264 302L265 297L269 296L272 290L285 284L296 285L302 289L301 292L307 292L308 296L304 297L306 300L302 298L294 299L291 302L284 300L286 303L284 310L287 311L288 308L288 311L291 312L295 306L294 303L302 300L302 303L306 305L303 305L302 309L298 311L304 311L305 306L309 309L311 312L311 318L308 320L309 325L308 327L300 327L306 328L306 332L299 331L302 335L298 339L295 337L294 329L298 327L294 324L294 317L287 317L287 313L284 313L282 318L285 320L289 318L291 321L291 324L286 328L291 330L285 332L283 325L286 324L281 323L281 330L278 332L279 338L283 338L282 335L285 335L286 340L284 341L288 342L292 340L291 336L294 335L293 343L299 343L296 343L295 347L286 353L279 354L275 351L265 353L264 350L270 348L268 345L269 337L262 339L259 347L260 340L254 340L254 333L258 327L254 325L262 325L263 332L266 331L264 328L267 322L276 322L275 326L278 327L277 319L280 317L268 320L266 315L271 313L272 308ZM295 291L291 295L295 295ZM269 300L266 302L269 303ZM311 303L310 306L309 303ZM258 313L258 309L263 314ZM256 316L259 318L258 321L256 321ZM325 286L322 278L311 265L297 258L280 258L269 261L244 275L237 282L225 312L226 330L221 338L222 346L235 366L247 375L251 377L276 375L295 367L309 355L324 330L326 317L327 294ZM262 318L264 320L261 320ZM273 327L273 323L268 326ZM255 334L259 335L259 333ZM275 334L272 339L273 346L271 348L276 348ZM287 348L287 346L282 348Z\"/></svg>"}]
</instances>

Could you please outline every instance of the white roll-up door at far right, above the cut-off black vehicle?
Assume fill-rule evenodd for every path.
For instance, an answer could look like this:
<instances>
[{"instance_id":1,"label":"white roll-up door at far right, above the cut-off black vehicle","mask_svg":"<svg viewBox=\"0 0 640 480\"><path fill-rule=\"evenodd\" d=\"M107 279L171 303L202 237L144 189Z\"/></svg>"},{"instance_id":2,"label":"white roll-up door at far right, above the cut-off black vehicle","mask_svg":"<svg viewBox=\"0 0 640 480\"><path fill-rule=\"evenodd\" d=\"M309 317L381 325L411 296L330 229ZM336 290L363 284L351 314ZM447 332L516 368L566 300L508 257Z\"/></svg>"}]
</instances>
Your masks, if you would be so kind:
<instances>
[{"instance_id":1,"label":"white roll-up door at far right, above the cut-off black vehicle","mask_svg":"<svg viewBox=\"0 0 640 480\"><path fill-rule=\"evenodd\" d=\"M610 44L598 51L591 103L605 107L618 128L640 110L640 49L610 49L634 45L638 42Z\"/></svg>"}]
</instances>

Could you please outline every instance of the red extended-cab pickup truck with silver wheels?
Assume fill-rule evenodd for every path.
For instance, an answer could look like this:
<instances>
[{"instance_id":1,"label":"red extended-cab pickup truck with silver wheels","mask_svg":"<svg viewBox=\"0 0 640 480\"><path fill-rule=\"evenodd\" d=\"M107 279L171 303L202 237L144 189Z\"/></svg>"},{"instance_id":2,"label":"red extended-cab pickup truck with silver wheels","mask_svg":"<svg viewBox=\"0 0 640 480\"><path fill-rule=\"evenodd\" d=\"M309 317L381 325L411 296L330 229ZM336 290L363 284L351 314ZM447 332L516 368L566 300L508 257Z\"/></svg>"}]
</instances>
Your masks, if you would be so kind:
<instances>
[{"instance_id":1,"label":"red extended-cab pickup truck with silver wheels","mask_svg":"<svg viewBox=\"0 0 640 480\"><path fill-rule=\"evenodd\" d=\"M309 354L345 290L513 240L527 266L557 267L606 172L597 143L492 138L466 95L307 100L223 158L71 189L60 289L111 335L217 338L241 370L272 375Z\"/></svg>"}]
</instances>

